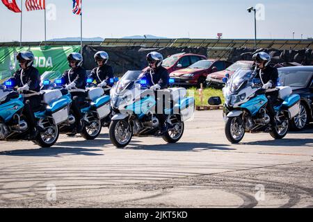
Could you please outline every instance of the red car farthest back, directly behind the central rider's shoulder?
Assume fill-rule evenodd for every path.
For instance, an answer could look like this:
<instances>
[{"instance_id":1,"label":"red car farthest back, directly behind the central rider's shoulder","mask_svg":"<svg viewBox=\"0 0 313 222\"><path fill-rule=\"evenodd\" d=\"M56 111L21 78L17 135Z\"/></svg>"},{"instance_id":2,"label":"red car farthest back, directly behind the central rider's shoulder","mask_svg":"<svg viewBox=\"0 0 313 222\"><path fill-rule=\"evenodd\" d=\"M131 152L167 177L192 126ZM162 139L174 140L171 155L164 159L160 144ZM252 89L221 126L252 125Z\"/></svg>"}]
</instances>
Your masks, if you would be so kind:
<instances>
[{"instance_id":1,"label":"red car farthest back, directly behind the central rider's shoulder","mask_svg":"<svg viewBox=\"0 0 313 222\"><path fill-rule=\"evenodd\" d=\"M168 56L168 58L164 59L162 62L162 66L168 69L168 73L170 74L172 71L176 71L179 69L184 69L199 60L206 60L207 57L198 55L198 54L191 54L191 53L178 53L172 56ZM143 69L143 71L145 71Z\"/></svg>"}]
</instances>

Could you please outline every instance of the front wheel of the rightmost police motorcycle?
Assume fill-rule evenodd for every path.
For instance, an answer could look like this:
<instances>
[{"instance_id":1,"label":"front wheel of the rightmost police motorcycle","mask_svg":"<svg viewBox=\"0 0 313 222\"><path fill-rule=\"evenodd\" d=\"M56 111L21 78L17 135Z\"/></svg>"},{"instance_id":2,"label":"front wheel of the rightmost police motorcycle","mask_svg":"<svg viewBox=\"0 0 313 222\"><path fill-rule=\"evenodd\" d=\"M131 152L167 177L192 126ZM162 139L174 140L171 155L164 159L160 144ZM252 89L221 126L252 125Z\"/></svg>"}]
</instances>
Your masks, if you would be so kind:
<instances>
[{"instance_id":1,"label":"front wheel of the rightmost police motorcycle","mask_svg":"<svg viewBox=\"0 0 313 222\"><path fill-rule=\"evenodd\" d=\"M238 144L245 135L245 124L242 117L229 117L225 123L225 135L229 142Z\"/></svg>"}]
</instances>

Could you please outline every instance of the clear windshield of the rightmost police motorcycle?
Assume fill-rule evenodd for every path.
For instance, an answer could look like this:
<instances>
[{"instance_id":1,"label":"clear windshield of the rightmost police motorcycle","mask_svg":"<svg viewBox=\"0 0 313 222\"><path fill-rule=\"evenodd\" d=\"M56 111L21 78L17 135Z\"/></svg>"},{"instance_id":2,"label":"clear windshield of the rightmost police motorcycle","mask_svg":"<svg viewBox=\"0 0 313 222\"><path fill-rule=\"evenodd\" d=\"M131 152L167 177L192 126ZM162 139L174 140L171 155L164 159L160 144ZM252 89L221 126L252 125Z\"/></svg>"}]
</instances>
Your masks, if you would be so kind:
<instances>
[{"instance_id":1,"label":"clear windshield of the rightmost police motorcycle","mask_svg":"<svg viewBox=\"0 0 313 222\"><path fill-rule=\"evenodd\" d=\"M229 90L231 93L239 92L239 90L252 85L254 72L247 69L238 69L230 78Z\"/></svg>"}]
</instances>

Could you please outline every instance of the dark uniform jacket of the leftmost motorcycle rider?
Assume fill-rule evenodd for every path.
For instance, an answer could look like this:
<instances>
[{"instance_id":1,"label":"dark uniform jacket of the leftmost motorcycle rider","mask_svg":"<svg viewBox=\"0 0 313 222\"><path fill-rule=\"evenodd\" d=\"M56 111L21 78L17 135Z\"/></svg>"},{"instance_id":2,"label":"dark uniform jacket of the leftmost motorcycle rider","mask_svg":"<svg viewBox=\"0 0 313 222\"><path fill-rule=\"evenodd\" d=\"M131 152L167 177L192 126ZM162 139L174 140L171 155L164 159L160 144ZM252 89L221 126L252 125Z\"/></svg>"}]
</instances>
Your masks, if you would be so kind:
<instances>
[{"instance_id":1,"label":"dark uniform jacket of the leftmost motorcycle rider","mask_svg":"<svg viewBox=\"0 0 313 222\"><path fill-rule=\"evenodd\" d=\"M40 92L40 75L35 67L29 67L26 70L21 68L15 71L10 80L13 80L17 87L23 87L27 84L29 90ZM32 92L26 92L26 94L32 94Z\"/></svg>"}]
</instances>

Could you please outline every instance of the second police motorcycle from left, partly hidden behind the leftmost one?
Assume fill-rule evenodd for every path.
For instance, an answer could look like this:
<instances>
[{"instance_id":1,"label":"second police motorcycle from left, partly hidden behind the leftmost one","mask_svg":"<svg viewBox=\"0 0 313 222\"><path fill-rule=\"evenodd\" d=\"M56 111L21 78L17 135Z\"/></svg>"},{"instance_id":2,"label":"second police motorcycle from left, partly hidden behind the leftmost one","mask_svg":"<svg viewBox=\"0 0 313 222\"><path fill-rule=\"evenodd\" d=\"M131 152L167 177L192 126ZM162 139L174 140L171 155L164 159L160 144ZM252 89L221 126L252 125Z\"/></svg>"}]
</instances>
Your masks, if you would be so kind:
<instances>
[{"instance_id":1,"label":"second police motorcycle from left, partly hidden behind the leftmost one","mask_svg":"<svg viewBox=\"0 0 313 222\"><path fill-rule=\"evenodd\" d=\"M95 139L101 133L102 119L107 117L110 112L110 96L104 95L104 90L99 87L87 87L86 89L65 89L61 75L55 78L51 83L49 76L42 79L42 89L57 90L63 92L67 97L71 98L70 92L83 92L86 94L86 101L81 106L81 114L83 115L83 130L81 136L85 139ZM45 90L43 90L45 91ZM71 100L72 102L72 100ZM70 105L69 105L70 106ZM60 126L60 133L66 133L73 136L75 125L75 117L73 111L69 109L67 121Z\"/></svg>"}]
</instances>

